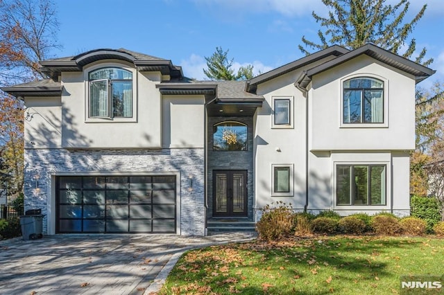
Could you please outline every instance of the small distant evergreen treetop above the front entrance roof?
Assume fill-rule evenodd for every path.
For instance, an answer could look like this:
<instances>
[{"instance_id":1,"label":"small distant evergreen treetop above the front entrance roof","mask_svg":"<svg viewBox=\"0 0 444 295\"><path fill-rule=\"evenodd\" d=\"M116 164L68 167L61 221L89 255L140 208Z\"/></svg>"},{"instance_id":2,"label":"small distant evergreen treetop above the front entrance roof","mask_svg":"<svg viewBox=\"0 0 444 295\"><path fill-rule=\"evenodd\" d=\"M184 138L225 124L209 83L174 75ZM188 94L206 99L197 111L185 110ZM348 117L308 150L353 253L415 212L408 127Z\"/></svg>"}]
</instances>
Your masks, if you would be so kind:
<instances>
[{"instance_id":1,"label":"small distant evergreen treetop above the front entrance roof","mask_svg":"<svg viewBox=\"0 0 444 295\"><path fill-rule=\"evenodd\" d=\"M228 50L223 51L222 47L216 47L216 51L210 57L205 57L207 70L203 73L211 80L248 80L253 78L253 65L241 66L237 74L234 75L232 69L233 59L228 60Z\"/></svg>"}]
</instances>

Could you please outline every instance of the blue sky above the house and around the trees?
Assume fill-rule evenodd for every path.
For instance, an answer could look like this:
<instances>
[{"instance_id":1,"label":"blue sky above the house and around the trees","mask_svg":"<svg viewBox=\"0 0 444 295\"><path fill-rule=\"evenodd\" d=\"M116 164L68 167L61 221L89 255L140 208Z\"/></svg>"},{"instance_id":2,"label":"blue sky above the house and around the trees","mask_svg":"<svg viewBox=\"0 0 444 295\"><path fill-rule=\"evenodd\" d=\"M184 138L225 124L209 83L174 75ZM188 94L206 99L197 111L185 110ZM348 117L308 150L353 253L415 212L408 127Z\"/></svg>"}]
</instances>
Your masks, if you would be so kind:
<instances>
[{"instance_id":1,"label":"blue sky above the house and around the trees","mask_svg":"<svg viewBox=\"0 0 444 295\"><path fill-rule=\"evenodd\" d=\"M410 0L410 20L427 3L411 37L427 48L444 80L444 1ZM398 0L388 0L395 3ZM311 12L326 15L321 0L76 0L56 1L63 48L54 57L96 48L127 48L166 58L190 78L204 79L205 56L229 50L233 68L253 64L262 73L303 57L301 38L318 41ZM427 80L426 80L427 81Z\"/></svg>"}]
</instances>

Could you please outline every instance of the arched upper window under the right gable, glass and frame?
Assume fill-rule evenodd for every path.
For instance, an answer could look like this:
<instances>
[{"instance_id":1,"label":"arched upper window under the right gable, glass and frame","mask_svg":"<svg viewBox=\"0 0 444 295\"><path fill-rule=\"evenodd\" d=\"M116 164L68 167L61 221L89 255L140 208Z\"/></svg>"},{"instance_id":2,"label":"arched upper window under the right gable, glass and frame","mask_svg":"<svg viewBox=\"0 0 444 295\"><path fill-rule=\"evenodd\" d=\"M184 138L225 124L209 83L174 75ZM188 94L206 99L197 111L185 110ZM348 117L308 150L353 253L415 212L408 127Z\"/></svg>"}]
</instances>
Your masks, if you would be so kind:
<instances>
[{"instance_id":1,"label":"arched upper window under the right gable, glass and frame","mask_svg":"<svg viewBox=\"0 0 444 295\"><path fill-rule=\"evenodd\" d=\"M343 82L343 123L384 123L384 82L374 78Z\"/></svg>"}]
</instances>

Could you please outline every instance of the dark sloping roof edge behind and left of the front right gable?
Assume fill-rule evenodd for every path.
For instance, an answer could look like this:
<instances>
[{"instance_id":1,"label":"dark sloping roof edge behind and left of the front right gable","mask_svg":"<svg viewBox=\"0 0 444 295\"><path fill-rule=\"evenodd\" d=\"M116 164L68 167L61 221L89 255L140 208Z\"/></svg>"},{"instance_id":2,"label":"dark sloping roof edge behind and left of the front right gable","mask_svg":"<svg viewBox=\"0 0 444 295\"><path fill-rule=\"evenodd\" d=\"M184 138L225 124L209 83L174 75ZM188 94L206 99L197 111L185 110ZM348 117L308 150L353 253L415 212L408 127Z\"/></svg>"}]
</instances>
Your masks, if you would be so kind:
<instances>
[{"instance_id":1,"label":"dark sloping roof edge behind and left of the front right gable","mask_svg":"<svg viewBox=\"0 0 444 295\"><path fill-rule=\"evenodd\" d=\"M298 69L301 66L305 66L307 64L311 64L312 62L322 60L323 58L328 57L330 55L337 57L337 56L343 55L348 52L349 52L348 49L343 48L339 45L330 46L330 47L325 48L321 51L318 51L316 53L312 53L311 55L307 55L305 57L302 57L299 60L296 60L294 62L290 62L289 64L284 64L283 66L280 66L277 69L268 71L266 73L263 73L262 75L258 75L255 78L248 80L248 82L246 84L246 91L254 92L254 91L256 91L258 84L261 84L261 83L264 83L268 80L276 78L280 75L283 75L284 73L289 73L290 71Z\"/></svg>"}]
</instances>

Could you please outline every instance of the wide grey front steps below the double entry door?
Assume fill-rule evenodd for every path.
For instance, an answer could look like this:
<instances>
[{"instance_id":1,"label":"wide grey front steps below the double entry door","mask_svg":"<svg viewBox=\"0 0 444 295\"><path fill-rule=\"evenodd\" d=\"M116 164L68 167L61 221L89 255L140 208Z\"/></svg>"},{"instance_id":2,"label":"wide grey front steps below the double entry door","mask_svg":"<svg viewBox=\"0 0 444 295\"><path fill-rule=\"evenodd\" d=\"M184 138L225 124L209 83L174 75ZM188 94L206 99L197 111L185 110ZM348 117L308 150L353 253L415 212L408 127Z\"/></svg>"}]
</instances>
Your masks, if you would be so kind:
<instances>
[{"instance_id":1,"label":"wide grey front steps below the double entry door","mask_svg":"<svg viewBox=\"0 0 444 295\"><path fill-rule=\"evenodd\" d=\"M237 231L256 231L256 222L245 219L212 218L207 221L207 235L234 233Z\"/></svg>"}]
</instances>

